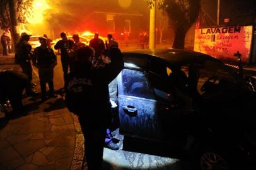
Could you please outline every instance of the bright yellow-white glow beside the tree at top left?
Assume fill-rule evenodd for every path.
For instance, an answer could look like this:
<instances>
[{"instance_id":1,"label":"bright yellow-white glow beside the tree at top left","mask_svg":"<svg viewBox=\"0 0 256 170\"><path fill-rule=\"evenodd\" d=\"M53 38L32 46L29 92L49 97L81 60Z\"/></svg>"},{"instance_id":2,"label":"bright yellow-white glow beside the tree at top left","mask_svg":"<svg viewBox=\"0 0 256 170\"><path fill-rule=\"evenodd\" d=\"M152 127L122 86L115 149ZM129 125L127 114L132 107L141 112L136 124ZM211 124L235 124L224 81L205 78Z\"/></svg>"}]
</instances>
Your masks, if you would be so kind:
<instances>
[{"instance_id":1,"label":"bright yellow-white glow beside the tree at top left","mask_svg":"<svg viewBox=\"0 0 256 170\"><path fill-rule=\"evenodd\" d=\"M37 24L44 21L44 11L49 9L50 6L47 4L46 0L35 0L32 5L32 14L28 16L28 23Z\"/></svg>"}]
</instances>

